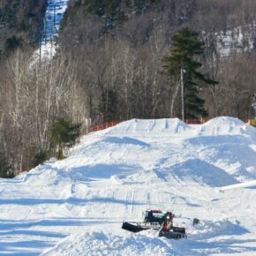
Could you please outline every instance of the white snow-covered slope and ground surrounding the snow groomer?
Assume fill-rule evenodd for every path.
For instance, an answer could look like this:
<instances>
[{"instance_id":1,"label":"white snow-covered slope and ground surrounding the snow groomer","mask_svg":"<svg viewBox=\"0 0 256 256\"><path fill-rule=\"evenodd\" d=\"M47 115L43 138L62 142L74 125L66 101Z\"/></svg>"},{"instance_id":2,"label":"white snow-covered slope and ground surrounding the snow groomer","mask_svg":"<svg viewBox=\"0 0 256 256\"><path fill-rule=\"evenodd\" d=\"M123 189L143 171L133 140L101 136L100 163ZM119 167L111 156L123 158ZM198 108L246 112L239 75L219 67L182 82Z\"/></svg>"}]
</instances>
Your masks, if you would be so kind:
<instances>
[{"instance_id":1,"label":"white snow-covered slope and ground surrounding the snow groomer","mask_svg":"<svg viewBox=\"0 0 256 256\"><path fill-rule=\"evenodd\" d=\"M0 254L256 255L255 187L221 189L255 179L256 129L236 118L133 119L0 179ZM148 208L173 212L188 238L121 229Z\"/></svg>"}]
</instances>

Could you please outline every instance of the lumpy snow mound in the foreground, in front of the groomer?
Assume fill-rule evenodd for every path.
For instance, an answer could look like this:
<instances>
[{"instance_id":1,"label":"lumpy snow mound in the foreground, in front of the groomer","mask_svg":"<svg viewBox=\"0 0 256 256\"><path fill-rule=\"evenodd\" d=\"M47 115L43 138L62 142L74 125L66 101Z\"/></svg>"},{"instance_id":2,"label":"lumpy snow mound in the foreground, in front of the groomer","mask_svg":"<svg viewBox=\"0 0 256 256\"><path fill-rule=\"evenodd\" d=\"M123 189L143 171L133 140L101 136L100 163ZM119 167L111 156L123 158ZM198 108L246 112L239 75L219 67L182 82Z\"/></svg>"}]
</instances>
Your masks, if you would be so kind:
<instances>
[{"instance_id":1,"label":"lumpy snow mound in the foreground, in front of the groomer","mask_svg":"<svg viewBox=\"0 0 256 256\"><path fill-rule=\"evenodd\" d=\"M137 256L137 255L171 255L171 244L165 244L157 237L157 232L152 236L129 235L128 237L116 236L104 232L87 232L78 237L70 236L41 256L80 256L80 255L109 255L109 256ZM176 254L177 255L177 254Z\"/></svg>"}]
</instances>

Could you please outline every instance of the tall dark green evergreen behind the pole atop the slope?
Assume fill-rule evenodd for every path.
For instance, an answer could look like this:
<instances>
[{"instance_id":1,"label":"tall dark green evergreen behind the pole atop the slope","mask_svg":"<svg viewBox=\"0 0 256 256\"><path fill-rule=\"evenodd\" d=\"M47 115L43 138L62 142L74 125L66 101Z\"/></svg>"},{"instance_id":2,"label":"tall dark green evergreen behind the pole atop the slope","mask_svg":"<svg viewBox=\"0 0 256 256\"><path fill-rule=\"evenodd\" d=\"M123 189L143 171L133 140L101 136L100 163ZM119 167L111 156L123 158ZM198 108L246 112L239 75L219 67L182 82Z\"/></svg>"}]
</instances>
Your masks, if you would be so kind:
<instances>
[{"instance_id":1,"label":"tall dark green evergreen behind the pole atop the slope","mask_svg":"<svg viewBox=\"0 0 256 256\"><path fill-rule=\"evenodd\" d=\"M164 68L171 76L177 77L182 94L182 117L206 117L205 101L200 98L199 90L203 84L217 84L207 79L199 70L202 64L198 56L204 53L204 43L199 34L188 27L184 27L172 38L170 55L164 58Z\"/></svg>"}]
</instances>

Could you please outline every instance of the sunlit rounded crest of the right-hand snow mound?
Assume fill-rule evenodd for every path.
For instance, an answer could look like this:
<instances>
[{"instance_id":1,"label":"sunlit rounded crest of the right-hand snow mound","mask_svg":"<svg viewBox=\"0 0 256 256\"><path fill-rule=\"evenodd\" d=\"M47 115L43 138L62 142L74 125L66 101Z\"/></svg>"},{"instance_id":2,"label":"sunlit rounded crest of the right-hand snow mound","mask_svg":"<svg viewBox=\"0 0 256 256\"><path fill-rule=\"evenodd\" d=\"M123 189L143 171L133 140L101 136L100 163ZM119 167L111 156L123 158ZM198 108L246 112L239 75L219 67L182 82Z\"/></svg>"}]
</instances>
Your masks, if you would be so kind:
<instances>
[{"instance_id":1,"label":"sunlit rounded crest of the right-hand snow mound","mask_svg":"<svg viewBox=\"0 0 256 256\"><path fill-rule=\"evenodd\" d=\"M234 117L215 117L206 124L200 125L198 134L201 136L243 135L256 139L255 128Z\"/></svg>"}]
</instances>

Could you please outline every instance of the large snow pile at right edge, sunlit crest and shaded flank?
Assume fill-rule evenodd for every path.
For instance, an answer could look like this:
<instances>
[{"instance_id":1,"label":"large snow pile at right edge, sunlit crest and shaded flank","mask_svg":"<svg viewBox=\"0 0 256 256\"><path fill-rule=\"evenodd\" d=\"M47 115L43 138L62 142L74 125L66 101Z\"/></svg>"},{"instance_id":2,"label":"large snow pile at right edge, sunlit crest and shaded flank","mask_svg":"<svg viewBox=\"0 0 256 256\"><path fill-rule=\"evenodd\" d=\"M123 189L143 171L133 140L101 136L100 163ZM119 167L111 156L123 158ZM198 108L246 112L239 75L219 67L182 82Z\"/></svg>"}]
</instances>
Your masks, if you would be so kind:
<instances>
[{"instance_id":1,"label":"large snow pile at right edge, sunlit crest and shaded flank","mask_svg":"<svg viewBox=\"0 0 256 256\"><path fill-rule=\"evenodd\" d=\"M204 160L224 169L239 181L256 179L256 158L252 148L256 129L232 117L217 117L198 127L198 136L188 139L201 147ZM243 157L241 157L243 155Z\"/></svg>"}]
</instances>

